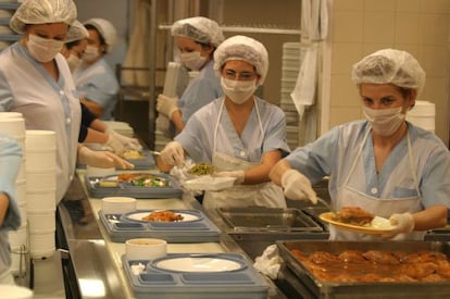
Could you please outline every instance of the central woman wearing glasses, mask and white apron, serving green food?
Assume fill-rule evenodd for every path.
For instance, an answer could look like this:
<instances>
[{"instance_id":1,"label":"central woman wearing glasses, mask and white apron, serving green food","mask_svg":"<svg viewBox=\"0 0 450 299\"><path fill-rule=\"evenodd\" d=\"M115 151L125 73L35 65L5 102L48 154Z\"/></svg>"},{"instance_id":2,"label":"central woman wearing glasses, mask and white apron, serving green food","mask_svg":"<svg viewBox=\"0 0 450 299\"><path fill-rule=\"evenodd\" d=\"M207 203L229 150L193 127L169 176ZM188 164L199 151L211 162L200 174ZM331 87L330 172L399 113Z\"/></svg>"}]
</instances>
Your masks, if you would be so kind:
<instances>
[{"instance_id":1,"label":"central woman wearing glasses, mask and white apron, serving green food","mask_svg":"<svg viewBox=\"0 0 450 299\"><path fill-rule=\"evenodd\" d=\"M186 152L197 163L212 163L215 175L234 177L233 188L205 192L205 209L285 208L282 188L268 179L270 170L289 151L285 114L254 96L267 74L267 51L255 39L234 36L218 46L214 59L225 96L191 116L161 152L159 166L183 166Z\"/></svg>"}]
</instances>

